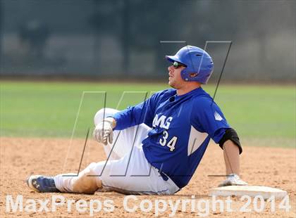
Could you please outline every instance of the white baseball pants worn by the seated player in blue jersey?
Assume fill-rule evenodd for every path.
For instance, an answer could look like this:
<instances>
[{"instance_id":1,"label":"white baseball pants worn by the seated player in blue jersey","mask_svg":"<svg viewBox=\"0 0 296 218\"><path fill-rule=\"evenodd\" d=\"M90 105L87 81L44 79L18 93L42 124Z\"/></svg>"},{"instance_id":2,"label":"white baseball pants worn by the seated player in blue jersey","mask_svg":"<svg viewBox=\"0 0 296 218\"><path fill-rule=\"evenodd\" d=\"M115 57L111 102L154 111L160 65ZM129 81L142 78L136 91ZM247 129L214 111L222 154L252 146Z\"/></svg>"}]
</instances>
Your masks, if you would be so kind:
<instances>
[{"instance_id":1,"label":"white baseball pants worn by the seated player in blue jersey","mask_svg":"<svg viewBox=\"0 0 296 218\"><path fill-rule=\"evenodd\" d=\"M118 110L103 108L94 116L94 124L112 116ZM104 146L107 160L92 162L84 172L92 172L101 181L103 191L125 194L170 195L180 190L171 179L163 179L159 170L149 164L142 150L142 140L147 137L149 127L140 124L122 131L113 132L113 143ZM134 146L133 146L134 145ZM73 192L75 177L54 177L56 188L61 192ZM77 178L77 177L76 177Z\"/></svg>"}]
</instances>

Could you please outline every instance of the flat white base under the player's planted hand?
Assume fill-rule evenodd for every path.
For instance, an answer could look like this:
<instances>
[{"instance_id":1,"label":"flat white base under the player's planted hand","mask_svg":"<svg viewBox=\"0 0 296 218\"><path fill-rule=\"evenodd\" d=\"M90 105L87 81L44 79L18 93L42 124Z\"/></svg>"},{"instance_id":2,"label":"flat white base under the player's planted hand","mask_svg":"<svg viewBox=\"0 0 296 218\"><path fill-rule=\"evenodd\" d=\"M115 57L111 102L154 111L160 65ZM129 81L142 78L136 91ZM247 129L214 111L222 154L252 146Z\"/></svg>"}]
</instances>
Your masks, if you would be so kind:
<instances>
[{"instance_id":1,"label":"flat white base under the player's planted hand","mask_svg":"<svg viewBox=\"0 0 296 218\"><path fill-rule=\"evenodd\" d=\"M264 199L271 198L274 195L275 198L285 198L287 191L280 190L278 188L271 188L267 186L223 186L218 188L211 188L210 196L242 196L249 195L255 197L261 195Z\"/></svg>"}]
</instances>

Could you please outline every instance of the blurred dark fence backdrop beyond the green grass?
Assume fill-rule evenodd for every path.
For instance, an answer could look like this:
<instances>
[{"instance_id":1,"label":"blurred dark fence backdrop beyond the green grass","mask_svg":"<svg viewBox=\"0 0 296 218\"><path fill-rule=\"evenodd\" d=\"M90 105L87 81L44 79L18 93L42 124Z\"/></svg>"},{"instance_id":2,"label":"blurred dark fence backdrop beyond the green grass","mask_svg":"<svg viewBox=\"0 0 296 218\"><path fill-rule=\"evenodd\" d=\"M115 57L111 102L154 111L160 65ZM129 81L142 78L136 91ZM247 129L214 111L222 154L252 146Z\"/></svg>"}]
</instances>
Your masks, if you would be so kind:
<instances>
[{"instance_id":1,"label":"blurred dark fence backdrop beyond the green grass","mask_svg":"<svg viewBox=\"0 0 296 218\"><path fill-rule=\"evenodd\" d=\"M229 82L295 81L295 1L0 1L1 77L161 79L183 40L233 41ZM227 44L209 44L214 77ZM210 81L211 82L211 81Z\"/></svg>"}]
</instances>

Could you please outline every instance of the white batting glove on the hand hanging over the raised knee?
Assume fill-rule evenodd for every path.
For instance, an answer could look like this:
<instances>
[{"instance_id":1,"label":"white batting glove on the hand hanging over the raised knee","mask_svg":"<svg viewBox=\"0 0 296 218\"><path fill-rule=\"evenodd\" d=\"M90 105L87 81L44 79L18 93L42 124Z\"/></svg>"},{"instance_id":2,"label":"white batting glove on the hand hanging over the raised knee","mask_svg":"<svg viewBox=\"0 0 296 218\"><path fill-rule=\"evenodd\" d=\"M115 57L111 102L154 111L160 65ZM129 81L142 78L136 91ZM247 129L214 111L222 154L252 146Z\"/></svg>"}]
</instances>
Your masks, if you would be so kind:
<instances>
[{"instance_id":1,"label":"white batting glove on the hand hanging over the raised knee","mask_svg":"<svg viewBox=\"0 0 296 218\"><path fill-rule=\"evenodd\" d=\"M94 129L94 140L103 143L105 146L113 142L113 128L115 127L115 120L113 117L107 117L105 120L97 124Z\"/></svg>"}]
</instances>

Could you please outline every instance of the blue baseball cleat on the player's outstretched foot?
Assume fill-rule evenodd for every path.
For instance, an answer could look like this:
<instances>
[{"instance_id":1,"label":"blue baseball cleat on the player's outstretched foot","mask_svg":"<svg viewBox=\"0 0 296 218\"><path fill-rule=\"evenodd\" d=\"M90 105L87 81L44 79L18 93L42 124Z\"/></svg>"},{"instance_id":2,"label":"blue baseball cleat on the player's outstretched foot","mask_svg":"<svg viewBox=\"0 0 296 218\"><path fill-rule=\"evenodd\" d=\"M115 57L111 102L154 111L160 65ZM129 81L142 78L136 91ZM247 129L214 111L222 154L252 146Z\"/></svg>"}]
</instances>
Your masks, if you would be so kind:
<instances>
[{"instance_id":1,"label":"blue baseball cleat on the player's outstretched foot","mask_svg":"<svg viewBox=\"0 0 296 218\"><path fill-rule=\"evenodd\" d=\"M32 175L27 178L27 186L37 192L60 192L54 184L53 177L44 177L42 175Z\"/></svg>"}]
</instances>

